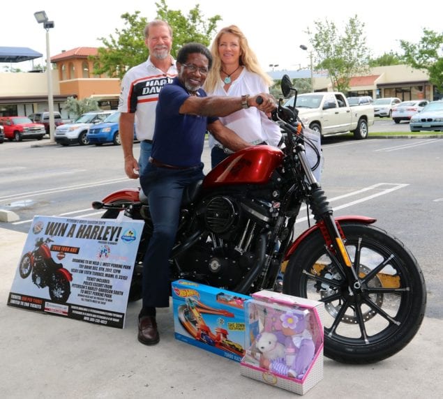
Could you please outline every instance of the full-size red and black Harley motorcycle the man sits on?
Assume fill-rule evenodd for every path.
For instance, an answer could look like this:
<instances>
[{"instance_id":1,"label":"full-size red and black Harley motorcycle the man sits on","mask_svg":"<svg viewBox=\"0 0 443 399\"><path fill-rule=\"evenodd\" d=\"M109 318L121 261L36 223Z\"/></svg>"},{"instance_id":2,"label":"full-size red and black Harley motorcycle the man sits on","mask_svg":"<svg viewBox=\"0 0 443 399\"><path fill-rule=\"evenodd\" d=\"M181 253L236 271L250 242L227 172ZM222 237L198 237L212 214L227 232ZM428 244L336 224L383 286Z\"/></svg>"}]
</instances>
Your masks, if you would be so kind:
<instances>
[{"instance_id":1,"label":"full-size red and black Harley motorcycle the man sits on","mask_svg":"<svg viewBox=\"0 0 443 399\"><path fill-rule=\"evenodd\" d=\"M296 93L283 77L283 95L291 90ZM374 218L333 217L313 172L321 150L297 114L280 100L273 120L283 132L282 149L259 145L233 153L186 190L171 279L250 294L275 289L281 267L285 294L324 303L326 356L345 363L386 359L419 330L426 307L423 273L410 250L375 227ZM315 224L295 237L305 203ZM124 211L144 220L130 290L131 299L140 299L141 264L152 232L146 196L120 190L93 208L106 209L103 218Z\"/></svg>"}]
</instances>

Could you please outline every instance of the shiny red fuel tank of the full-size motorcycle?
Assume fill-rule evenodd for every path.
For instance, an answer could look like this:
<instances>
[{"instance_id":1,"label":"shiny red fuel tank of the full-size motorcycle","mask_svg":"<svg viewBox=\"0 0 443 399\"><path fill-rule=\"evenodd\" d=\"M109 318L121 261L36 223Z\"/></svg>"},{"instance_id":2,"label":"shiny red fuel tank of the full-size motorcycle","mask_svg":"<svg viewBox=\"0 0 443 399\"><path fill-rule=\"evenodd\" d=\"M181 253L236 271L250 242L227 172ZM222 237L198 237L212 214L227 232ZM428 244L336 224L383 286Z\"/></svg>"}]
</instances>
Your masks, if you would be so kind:
<instances>
[{"instance_id":1,"label":"shiny red fuel tank of the full-size motorcycle","mask_svg":"<svg viewBox=\"0 0 443 399\"><path fill-rule=\"evenodd\" d=\"M207 174L203 187L267 183L282 160L283 152L268 145L236 151Z\"/></svg>"}]
</instances>

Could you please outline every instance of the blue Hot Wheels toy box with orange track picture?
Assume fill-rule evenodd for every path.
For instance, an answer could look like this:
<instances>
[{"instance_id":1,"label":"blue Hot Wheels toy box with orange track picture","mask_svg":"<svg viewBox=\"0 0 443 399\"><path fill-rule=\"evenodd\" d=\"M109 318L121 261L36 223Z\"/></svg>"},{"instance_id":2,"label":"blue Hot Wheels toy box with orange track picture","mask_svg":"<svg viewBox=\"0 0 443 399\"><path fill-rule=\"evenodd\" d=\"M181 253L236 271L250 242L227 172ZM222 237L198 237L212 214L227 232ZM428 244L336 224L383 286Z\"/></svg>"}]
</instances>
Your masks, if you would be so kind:
<instances>
[{"instance_id":1,"label":"blue Hot Wheels toy box with orange track picture","mask_svg":"<svg viewBox=\"0 0 443 399\"><path fill-rule=\"evenodd\" d=\"M188 280L172 283L175 338L227 359L241 361L245 347L244 303L250 296Z\"/></svg>"}]
</instances>

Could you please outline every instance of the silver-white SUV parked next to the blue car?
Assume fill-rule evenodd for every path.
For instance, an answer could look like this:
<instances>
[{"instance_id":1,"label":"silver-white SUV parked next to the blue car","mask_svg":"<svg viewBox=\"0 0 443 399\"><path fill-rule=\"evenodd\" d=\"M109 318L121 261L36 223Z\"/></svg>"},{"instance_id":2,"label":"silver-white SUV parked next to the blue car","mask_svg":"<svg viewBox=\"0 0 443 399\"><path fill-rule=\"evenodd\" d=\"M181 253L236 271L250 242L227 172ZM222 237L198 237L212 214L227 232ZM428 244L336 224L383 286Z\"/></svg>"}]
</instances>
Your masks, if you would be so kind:
<instances>
[{"instance_id":1,"label":"silver-white SUV parked next to the blue car","mask_svg":"<svg viewBox=\"0 0 443 399\"><path fill-rule=\"evenodd\" d=\"M55 142L62 146L69 144L89 144L87 133L91 126L103 122L107 116L117 111L91 111L80 116L74 123L65 123L55 129Z\"/></svg>"}]
</instances>

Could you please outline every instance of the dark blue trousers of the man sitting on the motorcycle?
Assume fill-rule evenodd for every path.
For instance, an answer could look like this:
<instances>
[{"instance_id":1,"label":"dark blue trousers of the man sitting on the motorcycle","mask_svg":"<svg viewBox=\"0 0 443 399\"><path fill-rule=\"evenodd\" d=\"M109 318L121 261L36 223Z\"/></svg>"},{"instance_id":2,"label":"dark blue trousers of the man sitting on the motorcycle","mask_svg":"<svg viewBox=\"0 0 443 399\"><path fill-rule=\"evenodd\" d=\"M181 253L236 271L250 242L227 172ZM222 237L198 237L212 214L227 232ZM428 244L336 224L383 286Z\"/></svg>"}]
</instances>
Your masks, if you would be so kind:
<instances>
[{"instance_id":1,"label":"dark blue trousers of the man sitting on the motorcycle","mask_svg":"<svg viewBox=\"0 0 443 399\"><path fill-rule=\"evenodd\" d=\"M170 303L169 257L179 225L183 190L203 179L203 164L185 170L147 164L140 183L149 200L153 234L143 260L143 308L167 308Z\"/></svg>"}]
</instances>

